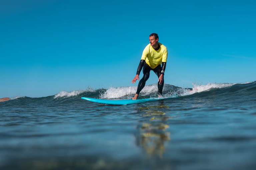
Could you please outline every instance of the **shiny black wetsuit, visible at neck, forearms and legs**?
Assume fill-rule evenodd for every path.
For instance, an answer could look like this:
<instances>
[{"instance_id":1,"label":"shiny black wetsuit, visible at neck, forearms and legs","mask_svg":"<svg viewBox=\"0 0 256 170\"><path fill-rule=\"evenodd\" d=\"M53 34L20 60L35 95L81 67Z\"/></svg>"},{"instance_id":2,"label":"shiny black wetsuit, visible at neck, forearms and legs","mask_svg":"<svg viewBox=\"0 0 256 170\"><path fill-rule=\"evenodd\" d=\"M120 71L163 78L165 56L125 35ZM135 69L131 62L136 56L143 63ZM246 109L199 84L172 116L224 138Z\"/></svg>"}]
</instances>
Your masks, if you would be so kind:
<instances>
[{"instance_id":1,"label":"shiny black wetsuit, visible at neck, forearms and legs","mask_svg":"<svg viewBox=\"0 0 256 170\"><path fill-rule=\"evenodd\" d=\"M160 48L160 45L158 45L158 47L155 49L155 50L158 50ZM138 70L137 70L137 73L136 74L140 74L141 72L141 69L142 69L142 66L143 66L143 77L142 79L140 79L140 82L138 84L138 88L137 88L137 92L136 94L139 94L140 91L145 87L145 84L146 84L146 81L148 80L149 78L149 73L150 73L150 70L153 70L157 77L159 78L161 74L164 75L164 71L165 71L165 67L166 67L166 62L162 62L162 67L161 65L159 64L158 66L156 66L156 68L151 68L146 62L145 60L140 60L140 64L138 66ZM164 77L163 77L163 82L162 84L160 85L159 84L159 81L158 81L158 84L157 84L157 87L158 87L158 94L159 95L162 95L162 91L163 91L163 87L164 87Z\"/></svg>"}]
</instances>

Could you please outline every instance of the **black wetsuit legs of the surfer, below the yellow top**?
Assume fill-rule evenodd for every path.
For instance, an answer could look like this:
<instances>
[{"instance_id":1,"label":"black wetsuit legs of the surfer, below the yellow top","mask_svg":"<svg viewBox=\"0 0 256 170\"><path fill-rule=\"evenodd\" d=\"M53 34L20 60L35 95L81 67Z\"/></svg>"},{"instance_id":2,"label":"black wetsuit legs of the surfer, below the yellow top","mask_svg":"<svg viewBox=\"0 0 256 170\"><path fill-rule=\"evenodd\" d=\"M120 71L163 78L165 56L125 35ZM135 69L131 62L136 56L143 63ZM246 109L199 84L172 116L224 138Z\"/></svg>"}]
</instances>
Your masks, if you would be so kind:
<instances>
[{"instance_id":1,"label":"black wetsuit legs of the surfer, below the yellow top","mask_svg":"<svg viewBox=\"0 0 256 170\"><path fill-rule=\"evenodd\" d=\"M146 62L144 63L143 70L142 70L143 77L142 77L142 79L140 79L136 94L139 94L140 91L144 88L144 86L146 84L146 81L149 78L150 70L153 70L156 73L157 77L159 78L160 75L161 75L161 70L162 70L161 64L156 66L156 68L151 68ZM163 91L163 87L164 87L164 78L163 78L163 82L162 82L161 85L159 85L159 82L158 82L157 87L158 87L158 92L157 93L159 95L162 95L162 91Z\"/></svg>"}]
</instances>

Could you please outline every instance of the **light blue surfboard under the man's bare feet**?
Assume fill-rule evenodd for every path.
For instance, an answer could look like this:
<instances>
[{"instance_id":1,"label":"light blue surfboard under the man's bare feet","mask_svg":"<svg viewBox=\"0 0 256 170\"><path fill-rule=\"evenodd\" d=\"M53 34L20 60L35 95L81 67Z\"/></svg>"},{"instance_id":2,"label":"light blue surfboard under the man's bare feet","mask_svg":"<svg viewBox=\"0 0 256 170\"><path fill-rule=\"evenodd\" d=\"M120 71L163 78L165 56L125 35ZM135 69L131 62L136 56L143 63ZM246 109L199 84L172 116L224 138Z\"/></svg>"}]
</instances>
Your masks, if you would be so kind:
<instances>
[{"instance_id":1,"label":"light blue surfboard under the man's bare feet","mask_svg":"<svg viewBox=\"0 0 256 170\"><path fill-rule=\"evenodd\" d=\"M161 100L164 98L153 98L153 99L138 99L138 100L106 100L106 99L95 99L95 98L89 98L89 97L81 97L81 99L88 100L91 102L96 103L102 103L102 104L108 104L108 105L130 105L134 103L142 103L147 101L154 101L154 100Z\"/></svg>"}]
</instances>

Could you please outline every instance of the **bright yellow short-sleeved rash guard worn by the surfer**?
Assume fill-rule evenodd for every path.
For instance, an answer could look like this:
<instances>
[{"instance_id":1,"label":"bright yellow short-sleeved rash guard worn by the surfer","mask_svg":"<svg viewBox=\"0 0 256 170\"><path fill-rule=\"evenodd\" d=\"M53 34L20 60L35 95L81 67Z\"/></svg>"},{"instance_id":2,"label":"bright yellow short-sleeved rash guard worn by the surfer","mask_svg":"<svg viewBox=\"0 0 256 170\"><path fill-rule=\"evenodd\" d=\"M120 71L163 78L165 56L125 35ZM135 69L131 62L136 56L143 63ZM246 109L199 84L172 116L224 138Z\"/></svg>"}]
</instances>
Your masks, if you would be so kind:
<instances>
[{"instance_id":1,"label":"bright yellow short-sleeved rash guard worn by the surfer","mask_svg":"<svg viewBox=\"0 0 256 170\"><path fill-rule=\"evenodd\" d=\"M156 51L150 44L148 44L142 53L141 59L145 60L151 68L156 68L156 66L167 60L167 48L159 42L158 44L160 45L159 50Z\"/></svg>"}]
</instances>

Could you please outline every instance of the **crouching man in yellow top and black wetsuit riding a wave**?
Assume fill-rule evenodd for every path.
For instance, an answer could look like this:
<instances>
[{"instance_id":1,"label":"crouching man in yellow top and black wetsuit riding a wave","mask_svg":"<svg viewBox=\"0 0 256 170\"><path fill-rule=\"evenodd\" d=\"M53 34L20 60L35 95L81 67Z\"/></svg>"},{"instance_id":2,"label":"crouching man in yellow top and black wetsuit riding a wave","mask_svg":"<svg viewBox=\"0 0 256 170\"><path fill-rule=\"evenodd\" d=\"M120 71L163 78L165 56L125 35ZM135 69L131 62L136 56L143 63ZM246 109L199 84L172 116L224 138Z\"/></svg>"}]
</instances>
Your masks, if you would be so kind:
<instances>
[{"instance_id":1,"label":"crouching man in yellow top and black wetsuit riding a wave","mask_svg":"<svg viewBox=\"0 0 256 170\"><path fill-rule=\"evenodd\" d=\"M132 83L135 83L136 80L139 80L139 74L143 67L143 77L139 81L137 92L134 98L132 98L133 100L136 100L138 98L140 91L144 88L146 81L149 78L150 70L153 70L158 76L157 93L158 97L161 97L162 95L164 87L164 71L167 60L167 48L163 44L158 42L158 35L156 33L150 34L149 42L150 43L146 46L142 53L136 76L132 80Z\"/></svg>"}]
</instances>

